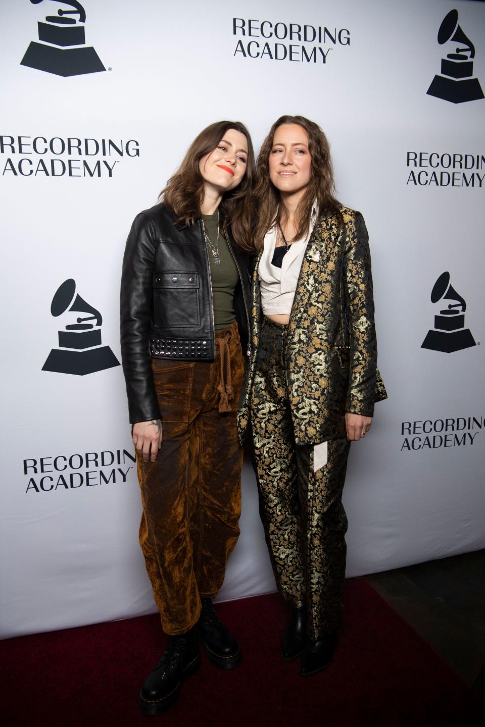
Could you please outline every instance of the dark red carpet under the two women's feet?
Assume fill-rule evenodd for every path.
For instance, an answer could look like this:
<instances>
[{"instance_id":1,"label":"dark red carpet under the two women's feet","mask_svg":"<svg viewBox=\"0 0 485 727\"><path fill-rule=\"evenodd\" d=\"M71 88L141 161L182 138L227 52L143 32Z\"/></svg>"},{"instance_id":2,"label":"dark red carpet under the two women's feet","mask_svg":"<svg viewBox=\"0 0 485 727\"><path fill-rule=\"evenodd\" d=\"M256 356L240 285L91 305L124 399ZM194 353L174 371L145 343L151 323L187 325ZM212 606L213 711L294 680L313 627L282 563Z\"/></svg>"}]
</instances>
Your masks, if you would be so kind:
<instances>
[{"instance_id":1,"label":"dark red carpet under the two women's feet","mask_svg":"<svg viewBox=\"0 0 485 727\"><path fill-rule=\"evenodd\" d=\"M158 616L0 643L5 727L471 727L485 706L363 579L345 584L345 625L329 669L311 678L284 663L286 611L277 595L218 606L244 661L202 667L161 717L137 710L145 675L163 651Z\"/></svg>"}]
</instances>

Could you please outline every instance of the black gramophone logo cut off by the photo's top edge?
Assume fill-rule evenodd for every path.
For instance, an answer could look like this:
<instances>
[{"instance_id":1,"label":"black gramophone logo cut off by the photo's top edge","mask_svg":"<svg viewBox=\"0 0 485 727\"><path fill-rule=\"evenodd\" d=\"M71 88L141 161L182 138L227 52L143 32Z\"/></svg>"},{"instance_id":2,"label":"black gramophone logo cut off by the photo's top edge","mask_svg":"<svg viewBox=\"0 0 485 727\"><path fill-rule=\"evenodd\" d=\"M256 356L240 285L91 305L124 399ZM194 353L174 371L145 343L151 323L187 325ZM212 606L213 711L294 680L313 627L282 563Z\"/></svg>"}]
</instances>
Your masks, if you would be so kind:
<instances>
[{"instance_id":1,"label":"black gramophone logo cut off by the photo's top edge","mask_svg":"<svg viewBox=\"0 0 485 727\"><path fill-rule=\"evenodd\" d=\"M57 10L57 15L46 16L45 23L37 23L41 42L31 42L20 65L55 73L57 76L80 76L83 73L105 71L95 49L86 46L84 25L81 25L86 21L86 12L81 3L76 0L52 1L70 5L74 9ZM33 5L41 2L42 0L31 0Z\"/></svg>"}]
</instances>

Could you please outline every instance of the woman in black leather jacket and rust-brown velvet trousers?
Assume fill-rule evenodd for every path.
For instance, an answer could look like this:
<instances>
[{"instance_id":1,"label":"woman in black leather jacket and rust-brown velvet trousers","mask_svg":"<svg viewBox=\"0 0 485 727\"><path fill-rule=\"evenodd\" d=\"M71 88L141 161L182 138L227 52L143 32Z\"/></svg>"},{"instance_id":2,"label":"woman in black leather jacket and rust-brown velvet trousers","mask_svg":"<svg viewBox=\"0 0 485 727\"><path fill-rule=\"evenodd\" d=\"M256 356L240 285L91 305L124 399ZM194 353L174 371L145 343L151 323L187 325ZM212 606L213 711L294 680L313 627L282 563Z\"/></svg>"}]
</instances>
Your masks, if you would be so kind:
<instances>
[{"instance_id":1,"label":"woman in black leather jacket and rust-brown velvet trousers","mask_svg":"<svg viewBox=\"0 0 485 727\"><path fill-rule=\"evenodd\" d=\"M249 337L244 251L252 248L254 179L246 127L208 126L161 203L135 218L124 254L121 356L143 502L140 545L169 636L140 691L146 715L176 701L200 665L198 640L216 667L241 662L212 598L239 536L236 410Z\"/></svg>"}]
</instances>

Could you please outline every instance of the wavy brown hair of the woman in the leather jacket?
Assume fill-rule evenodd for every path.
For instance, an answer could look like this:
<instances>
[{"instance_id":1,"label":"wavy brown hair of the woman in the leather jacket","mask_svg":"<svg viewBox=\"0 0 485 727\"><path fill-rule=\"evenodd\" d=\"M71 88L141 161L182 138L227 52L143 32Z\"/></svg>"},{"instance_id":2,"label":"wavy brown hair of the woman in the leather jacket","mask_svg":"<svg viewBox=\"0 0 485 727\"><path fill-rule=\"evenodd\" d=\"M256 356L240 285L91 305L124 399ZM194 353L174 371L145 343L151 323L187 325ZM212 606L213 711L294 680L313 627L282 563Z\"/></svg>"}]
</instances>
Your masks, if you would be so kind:
<instances>
[{"instance_id":1,"label":"wavy brown hair of the woman in the leather jacket","mask_svg":"<svg viewBox=\"0 0 485 727\"><path fill-rule=\"evenodd\" d=\"M254 252L249 193L256 181L256 162L251 137L241 121L216 121L201 131L188 148L177 172L161 190L160 200L163 199L167 209L175 215L178 224L192 225L201 216L204 179L199 170L199 162L202 157L215 150L228 129L235 129L246 137L247 162L241 184L226 193L220 202L220 217L225 224L231 225L233 238L237 244L246 252Z\"/></svg>"}]
</instances>

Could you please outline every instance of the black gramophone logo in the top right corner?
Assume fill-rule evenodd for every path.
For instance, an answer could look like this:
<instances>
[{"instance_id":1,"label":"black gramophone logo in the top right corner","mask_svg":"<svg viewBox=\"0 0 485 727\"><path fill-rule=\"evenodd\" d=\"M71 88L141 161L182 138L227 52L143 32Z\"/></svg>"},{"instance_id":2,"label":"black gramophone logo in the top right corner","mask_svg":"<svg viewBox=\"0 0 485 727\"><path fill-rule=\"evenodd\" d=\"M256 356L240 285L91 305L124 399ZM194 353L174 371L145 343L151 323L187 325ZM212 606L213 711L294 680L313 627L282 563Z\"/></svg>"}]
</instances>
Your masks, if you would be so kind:
<instances>
[{"instance_id":1,"label":"black gramophone logo in the top right corner","mask_svg":"<svg viewBox=\"0 0 485 727\"><path fill-rule=\"evenodd\" d=\"M458 11L450 10L438 30L438 43L450 43L446 58L441 59L441 75L436 74L426 92L451 103L464 103L484 98L480 81L473 78L475 46L458 25Z\"/></svg>"}]
</instances>

